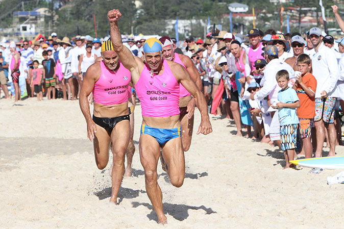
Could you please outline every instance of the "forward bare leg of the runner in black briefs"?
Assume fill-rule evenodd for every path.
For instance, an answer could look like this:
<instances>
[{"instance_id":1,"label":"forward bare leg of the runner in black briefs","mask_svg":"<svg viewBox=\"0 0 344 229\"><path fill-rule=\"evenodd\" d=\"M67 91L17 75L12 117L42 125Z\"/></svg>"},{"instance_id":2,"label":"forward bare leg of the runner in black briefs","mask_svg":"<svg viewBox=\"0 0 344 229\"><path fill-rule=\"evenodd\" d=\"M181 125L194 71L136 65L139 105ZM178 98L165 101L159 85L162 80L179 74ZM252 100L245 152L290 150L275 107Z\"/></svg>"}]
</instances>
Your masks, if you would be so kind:
<instances>
[{"instance_id":1,"label":"forward bare leg of the runner in black briefs","mask_svg":"<svg viewBox=\"0 0 344 229\"><path fill-rule=\"evenodd\" d=\"M124 161L130 137L130 122L118 122L111 132L111 151L113 155L112 189L110 202L117 204L117 195L124 175Z\"/></svg>"}]
</instances>

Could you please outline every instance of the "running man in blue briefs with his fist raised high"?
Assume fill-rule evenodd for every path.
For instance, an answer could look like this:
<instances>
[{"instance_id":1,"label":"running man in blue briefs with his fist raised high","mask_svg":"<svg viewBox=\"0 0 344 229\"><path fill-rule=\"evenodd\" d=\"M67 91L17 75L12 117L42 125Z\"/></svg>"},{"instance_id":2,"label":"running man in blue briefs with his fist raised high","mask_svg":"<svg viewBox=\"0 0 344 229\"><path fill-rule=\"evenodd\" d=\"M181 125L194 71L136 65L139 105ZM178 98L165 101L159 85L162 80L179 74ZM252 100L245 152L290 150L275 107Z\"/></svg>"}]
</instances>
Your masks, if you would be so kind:
<instances>
[{"instance_id":1,"label":"running man in blue briefs with his fist raised high","mask_svg":"<svg viewBox=\"0 0 344 229\"><path fill-rule=\"evenodd\" d=\"M178 63L162 59L162 45L156 38L149 38L143 44L144 62L134 57L121 42L117 26L121 16L116 9L108 12L111 41L119 60L131 72L132 82L141 102L143 120L139 148L145 173L145 187L157 213L158 222L165 224L167 218L162 206L162 192L157 182L159 157L164 159L163 167L172 185L181 187L185 176L179 122L179 83L195 97L201 112L202 121L198 134L209 134L212 128L204 96L191 80L187 70Z\"/></svg>"}]
</instances>

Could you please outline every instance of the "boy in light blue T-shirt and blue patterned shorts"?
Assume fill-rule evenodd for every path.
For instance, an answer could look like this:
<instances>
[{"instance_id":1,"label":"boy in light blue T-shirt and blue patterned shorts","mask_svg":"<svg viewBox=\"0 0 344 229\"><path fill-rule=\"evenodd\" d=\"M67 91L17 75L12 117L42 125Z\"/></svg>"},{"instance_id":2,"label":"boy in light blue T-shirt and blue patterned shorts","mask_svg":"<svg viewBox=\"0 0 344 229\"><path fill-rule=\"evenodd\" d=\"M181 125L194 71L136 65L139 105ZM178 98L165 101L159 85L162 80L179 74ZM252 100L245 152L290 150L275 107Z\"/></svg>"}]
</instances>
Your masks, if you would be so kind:
<instances>
[{"instance_id":1,"label":"boy in light blue T-shirt and blue patterned shorts","mask_svg":"<svg viewBox=\"0 0 344 229\"><path fill-rule=\"evenodd\" d=\"M300 107L300 100L296 91L288 87L289 73L280 70L276 74L278 86L282 88L278 92L279 103L273 105L278 108L278 118L280 121L281 148L284 151L285 169L294 167L289 161L294 160L295 148L298 137L299 118L296 108Z\"/></svg>"}]
</instances>

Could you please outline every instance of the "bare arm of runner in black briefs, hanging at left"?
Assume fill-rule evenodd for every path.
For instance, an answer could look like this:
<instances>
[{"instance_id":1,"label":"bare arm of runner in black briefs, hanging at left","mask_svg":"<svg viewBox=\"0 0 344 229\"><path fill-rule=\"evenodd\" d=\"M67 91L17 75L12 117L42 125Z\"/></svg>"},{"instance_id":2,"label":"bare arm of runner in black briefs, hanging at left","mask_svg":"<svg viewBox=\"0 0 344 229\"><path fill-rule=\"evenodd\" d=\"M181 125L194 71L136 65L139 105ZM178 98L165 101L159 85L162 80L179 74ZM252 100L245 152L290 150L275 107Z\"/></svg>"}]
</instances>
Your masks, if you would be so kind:
<instances>
[{"instance_id":1,"label":"bare arm of runner in black briefs, hanging at left","mask_svg":"<svg viewBox=\"0 0 344 229\"><path fill-rule=\"evenodd\" d=\"M100 63L92 64L86 71L83 79L82 87L80 90L79 105L81 112L83 113L87 123L87 138L92 141L94 139L94 133L96 133L96 125L92 120L90 107L87 97L92 92L94 84L100 77Z\"/></svg>"}]
</instances>

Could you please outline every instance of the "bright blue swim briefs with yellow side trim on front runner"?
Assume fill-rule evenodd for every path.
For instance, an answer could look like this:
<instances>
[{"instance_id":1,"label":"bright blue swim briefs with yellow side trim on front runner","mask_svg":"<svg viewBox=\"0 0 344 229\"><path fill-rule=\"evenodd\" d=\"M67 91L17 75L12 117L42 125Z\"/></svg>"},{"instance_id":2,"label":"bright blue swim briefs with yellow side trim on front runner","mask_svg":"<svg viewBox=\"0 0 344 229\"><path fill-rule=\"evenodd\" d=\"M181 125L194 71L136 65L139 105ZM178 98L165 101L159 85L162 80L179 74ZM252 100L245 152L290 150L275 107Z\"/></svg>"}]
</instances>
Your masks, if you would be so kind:
<instances>
[{"instance_id":1,"label":"bright blue swim briefs with yellow side trim on front runner","mask_svg":"<svg viewBox=\"0 0 344 229\"><path fill-rule=\"evenodd\" d=\"M171 139L181 137L181 128L174 129L162 129L162 128L153 128L148 125L141 125L141 134L148 134L154 137L162 146Z\"/></svg>"}]
</instances>

